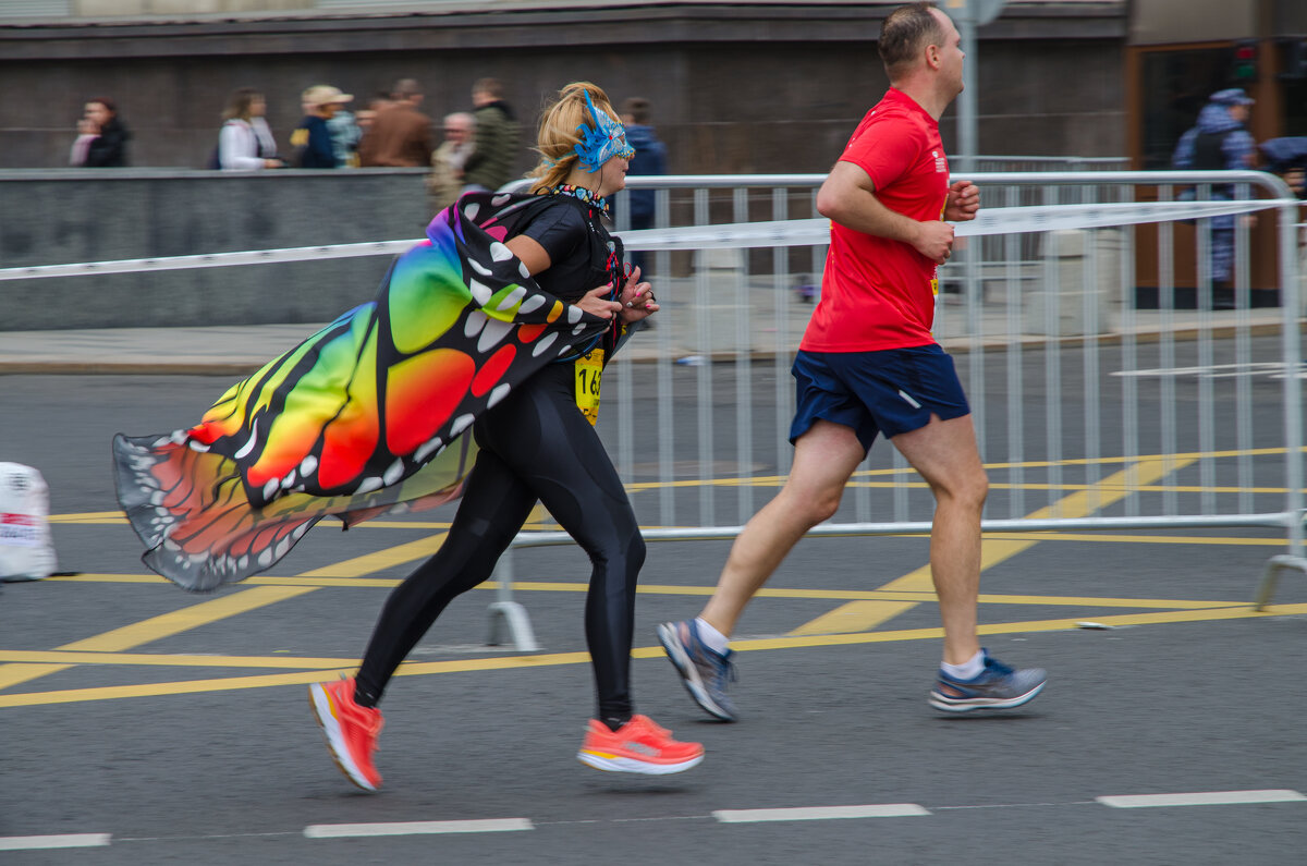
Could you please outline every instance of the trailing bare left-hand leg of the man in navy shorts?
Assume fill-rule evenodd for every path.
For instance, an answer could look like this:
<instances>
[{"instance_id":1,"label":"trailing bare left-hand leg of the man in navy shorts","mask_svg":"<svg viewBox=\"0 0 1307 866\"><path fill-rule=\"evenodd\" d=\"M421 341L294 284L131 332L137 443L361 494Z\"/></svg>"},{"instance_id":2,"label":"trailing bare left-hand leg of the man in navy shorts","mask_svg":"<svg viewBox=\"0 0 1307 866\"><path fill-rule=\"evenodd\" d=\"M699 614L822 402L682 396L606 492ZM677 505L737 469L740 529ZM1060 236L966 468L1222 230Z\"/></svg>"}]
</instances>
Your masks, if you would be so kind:
<instances>
[{"instance_id":1,"label":"trailing bare left-hand leg of the man in navy shorts","mask_svg":"<svg viewBox=\"0 0 1307 866\"><path fill-rule=\"evenodd\" d=\"M804 532L839 508L844 484L865 455L852 428L843 424L818 420L800 436L789 479L731 546L718 589L699 617L729 637L749 599Z\"/></svg>"}]
</instances>

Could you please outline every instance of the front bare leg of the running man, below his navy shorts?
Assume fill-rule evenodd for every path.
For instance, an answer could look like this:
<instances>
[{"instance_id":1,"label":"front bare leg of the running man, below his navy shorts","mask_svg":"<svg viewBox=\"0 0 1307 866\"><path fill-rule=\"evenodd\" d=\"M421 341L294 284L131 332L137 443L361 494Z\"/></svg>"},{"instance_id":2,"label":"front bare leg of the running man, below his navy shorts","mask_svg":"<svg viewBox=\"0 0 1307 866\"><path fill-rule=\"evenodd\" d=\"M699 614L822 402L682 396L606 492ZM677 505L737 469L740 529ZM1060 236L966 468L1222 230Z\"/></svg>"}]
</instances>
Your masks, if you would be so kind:
<instances>
[{"instance_id":1,"label":"front bare leg of the running man, below his navy shorts","mask_svg":"<svg viewBox=\"0 0 1307 866\"><path fill-rule=\"evenodd\" d=\"M980 513L989 491L975 428L970 415L948 421L932 415L925 426L890 441L935 493L931 576L944 620L944 661L962 665L980 650Z\"/></svg>"}]
</instances>

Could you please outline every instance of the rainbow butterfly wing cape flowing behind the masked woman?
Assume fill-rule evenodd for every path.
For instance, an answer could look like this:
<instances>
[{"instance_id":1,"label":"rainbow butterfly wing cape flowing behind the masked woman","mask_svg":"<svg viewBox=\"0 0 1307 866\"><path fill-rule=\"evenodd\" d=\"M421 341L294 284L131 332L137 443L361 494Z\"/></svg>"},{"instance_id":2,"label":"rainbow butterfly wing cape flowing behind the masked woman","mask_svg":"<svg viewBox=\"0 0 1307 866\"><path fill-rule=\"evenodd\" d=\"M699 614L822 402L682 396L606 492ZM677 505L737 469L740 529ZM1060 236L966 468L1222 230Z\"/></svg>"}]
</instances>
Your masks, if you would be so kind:
<instances>
[{"instance_id":1,"label":"rainbow butterfly wing cape flowing behind the masked woman","mask_svg":"<svg viewBox=\"0 0 1307 866\"><path fill-rule=\"evenodd\" d=\"M468 195L375 301L233 385L199 424L114 437L142 561L212 590L272 566L314 523L457 497L486 409L608 322L540 289L503 245L537 196Z\"/></svg>"}]
</instances>

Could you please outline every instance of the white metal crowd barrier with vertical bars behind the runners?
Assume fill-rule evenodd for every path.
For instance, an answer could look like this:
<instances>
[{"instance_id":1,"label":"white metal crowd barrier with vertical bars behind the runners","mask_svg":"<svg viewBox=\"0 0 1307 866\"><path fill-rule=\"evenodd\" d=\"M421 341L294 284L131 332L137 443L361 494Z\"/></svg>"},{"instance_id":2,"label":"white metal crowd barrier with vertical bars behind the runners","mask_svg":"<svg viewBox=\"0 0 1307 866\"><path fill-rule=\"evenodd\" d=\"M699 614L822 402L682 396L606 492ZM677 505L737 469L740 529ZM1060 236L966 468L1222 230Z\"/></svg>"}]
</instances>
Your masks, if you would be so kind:
<instances>
[{"instance_id":1,"label":"white metal crowd barrier with vertical bars behind the runners","mask_svg":"<svg viewBox=\"0 0 1307 866\"><path fill-rule=\"evenodd\" d=\"M970 179L980 184L987 205L997 200L1000 207L989 208L974 224L958 225L958 235L983 235L996 242L968 246L951 268L941 271L945 284L951 281L959 289L955 301L951 294L941 296L937 335L958 356L982 454L995 480L984 531L1273 527L1285 532L1286 553L1266 564L1256 603L1269 602L1283 570L1307 573L1302 556L1302 297L1294 237L1298 203L1287 187L1278 178L1253 171L978 173ZM810 194L821 181L772 179L770 194L778 207L774 218L786 218L779 205L793 198L791 188ZM694 190L693 230L704 247L725 246L731 237L738 246L769 246L763 243L767 237L783 234L774 225L704 226L698 218L707 213L710 191L729 196L736 213L748 211L749 184L755 182L676 179L664 181L661 192ZM1196 200L1176 200L1182 187L1195 184ZM1239 184L1235 200L1219 200L1227 184ZM1252 190L1270 198L1253 199ZM1141 192L1158 200L1136 200ZM667 209L664 199L660 212ZM1268 313L1255 311L1249 229L1238 224L1229 289L1233 309L1217 310L1208 263L1212 222L1259 209L1274 209L1278 222L1278 303ZM1196 281L1189 286L1178 286L1175 280L1179 220L1199 220ZM1159 262L1155 311L1136 309L1138 241L1133 226L1145 222L1157 224L1150 229L1157 233ZM789 226L786 237L792 245L810 245L818 237L813 222L799 220ZM664 242L672 245L672 237L663 235ZM629 238L631 246L639 245L640 235ZM740 258L733 272L714 276L701 252L691 277L680 283L685 296L693 294L699 323L710 320L706 310L712 296L721 292L723 279L748 285L742 293L748 300L733 310L736 331L706 328L708 335L716 335L716 343L728 345L716 351L712 338L707 345L697 344L703 349L701 356L727 364L701 365L681 374L694 379L687 385L694 394L695 424L689 436L681 434L681 442L693 438L698 453L693 487L697 502L676 484L672 472L673 455L685 457L672 417L686 409L686 400L677 404L673 399L674 374L680 370L665 351L672 328L660 326L655 331L655 339L664 343L652 377L642 375L630 357L614 361L610 381L617 386L618 406L616 417L601 419L601 433L616 441L618 468L631 487L657 491L660 525L643 531L651 542L733 538L754 510L754 488L778 487L788 470L784 432L792 399L787 373L800 328L791 315L796 302L787 290L789 247L779 239L775 245L771 272L761 279L753 277L749 256ZM949 280L950 269L961 273ZM665 273L665 264L657 271ZM1001 297L989 297L991 284L997 284ZM1193 292L1192 311L1179 309L1178 289ZM660 297L676 296L660 292ZM741 330L758 336L749 320L757 307L767 305L775 339L741 343ZM766 375L770 370L775 400L770 411L755 413L752 389L759 374L759 349L770 355L762 372ZM999 361L997 369L989 360ZM1255 390L1268 383L1278 383L1278 402L1255 400ZM723 386L732 385L733 406L724 408L721 402L729 396L723 395ZM656 390L656 399L640 400L640 387ZM651 411L657 415L656 424L651 424ZM644 432L639 440L637 415ZM612 425L605 424L608 420ZM732 425L736 443L729 447L718 430ZM763 429L770 432L758 436ZM656 430L655 442L648 441L650 430ZM1027 436L1030 430L1042 436ZM774 457L766 454L771 443L779 449ZM656 467L634 464L634 454L651 451L659 454ZM723 464L736 471L723 472ZM761 468L754 470L755 464ZM655 480L642 480L655 472ZM1283 488L1270 494L1255 492L1253 477L1263 474L1282 479ZM855 475L847 497L852 504L846 502L830 523L810 534L928 532L933 501L923 484L903 481L910 476L894 449L873 450L868 464ZM1027 502L1029 493L1039 489L1047 491L1047 501ZM877 498L873 491L881 496ZM1080 494L1080 501L1065 496L1068 492ZM735 500L736 523L720 519L725 517L719 501L723 493ZM643 502L637 509L652 514ZM727 513L731 510L728 504ZM1005 517L996 515L1004 510ZM890 519L872 519L876 515ZM570 543L565 532L523 532L514 546ZM501 587L510 586L511 574L511 559L506 557L497 573ZM501 591L506 593L501 600L511 603L508 590Z\"/></svg>"}]
</instances>

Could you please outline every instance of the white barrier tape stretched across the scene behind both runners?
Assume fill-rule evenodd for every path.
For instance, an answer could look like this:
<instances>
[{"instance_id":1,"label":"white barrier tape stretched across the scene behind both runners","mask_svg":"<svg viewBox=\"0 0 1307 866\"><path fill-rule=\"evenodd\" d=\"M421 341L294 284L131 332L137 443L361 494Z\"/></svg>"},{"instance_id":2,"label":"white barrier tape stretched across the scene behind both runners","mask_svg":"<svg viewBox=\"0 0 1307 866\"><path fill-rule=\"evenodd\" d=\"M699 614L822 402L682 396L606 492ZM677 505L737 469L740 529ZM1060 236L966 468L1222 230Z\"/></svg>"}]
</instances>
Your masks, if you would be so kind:
<instances>
[{"instance_id":1,"label":"white barrier tape stretched across the scene behind both runners","mask_svg":"<svg viewBox=\"0 0 1307 866\"><path fill-rule=\"evenodd\" d=\"M1235 213L1252 213L1297 201L1261 199L1244 201L1121 201L1115 204L1051 204L1018 208L983 208L975 220L954 225L957 237L985 234L1022 234L1027 232L1060 232L1068 229L1103 229L1115 225L1197 220ZM656 252L661 250L712 250L721 247L822 246L830 242L830 221L778 220L772 222L731 222L723 225L685 226L680 229L644 229L623 232L629 250ZM145 271L179 271L184 268L223 268L238 264L273 262L312 262L319 259L352 259L366 255L397 255L421 239L378 241L374 243L337 243L333 246L290 247L284 250L251 250L246 252L213 252L178 255L159 259L123 259L118 262L84 262L80 264L44 264L26 268L0 268L0 281L31 280L54 276L89 276L93 273L140 273Z\"/></svg>"}]
</instances>

